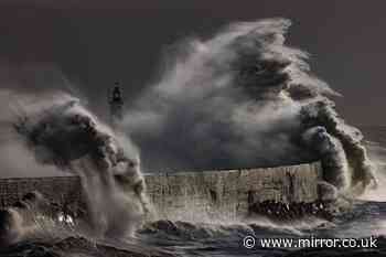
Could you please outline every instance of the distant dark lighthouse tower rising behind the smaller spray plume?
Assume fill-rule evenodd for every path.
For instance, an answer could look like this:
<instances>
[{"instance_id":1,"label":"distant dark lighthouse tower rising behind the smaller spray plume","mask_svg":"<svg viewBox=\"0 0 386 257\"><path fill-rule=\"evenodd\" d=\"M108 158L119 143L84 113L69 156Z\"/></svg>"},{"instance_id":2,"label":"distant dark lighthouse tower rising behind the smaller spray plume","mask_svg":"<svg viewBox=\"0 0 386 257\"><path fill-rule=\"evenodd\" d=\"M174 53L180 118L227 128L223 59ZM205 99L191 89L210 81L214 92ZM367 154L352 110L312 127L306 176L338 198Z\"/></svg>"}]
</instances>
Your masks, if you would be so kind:
<instances>
[{"instance_id":1,"label":"distant dark lighthouse tower rising behind the smaller spray plume","mask_svg":"<svg viewBox=\"0 0 386 257\"><path fill-rule=\"evenodd\" d=\"M116 128L124 118L124 97L119 83L115 83L112 90L108 96L110 106L110 121L112 128Z\"/></svg>"}]
</instances>

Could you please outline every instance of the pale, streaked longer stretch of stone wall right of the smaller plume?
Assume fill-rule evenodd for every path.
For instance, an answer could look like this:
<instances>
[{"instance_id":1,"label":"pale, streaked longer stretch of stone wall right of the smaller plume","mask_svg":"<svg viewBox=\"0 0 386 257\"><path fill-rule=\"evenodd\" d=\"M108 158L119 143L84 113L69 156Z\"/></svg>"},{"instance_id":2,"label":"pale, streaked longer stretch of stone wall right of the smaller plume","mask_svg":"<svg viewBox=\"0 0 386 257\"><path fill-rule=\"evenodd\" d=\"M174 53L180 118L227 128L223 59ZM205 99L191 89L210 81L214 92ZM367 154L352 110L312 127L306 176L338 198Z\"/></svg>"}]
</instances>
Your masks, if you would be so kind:
<instances>
[{"instance_id":1,"label":"pale, streaked longer stretch of stone wall right of the smaller plume","mask_svg":"<svg viewBox=\"0 0 386 257\"><path fill-rule=\"evenodd\" d=\"M319 163L291 167L160 173L147 175L149 197L160 218L235 219L256 202L313 202Z\"/></svg>"}]
</instances>

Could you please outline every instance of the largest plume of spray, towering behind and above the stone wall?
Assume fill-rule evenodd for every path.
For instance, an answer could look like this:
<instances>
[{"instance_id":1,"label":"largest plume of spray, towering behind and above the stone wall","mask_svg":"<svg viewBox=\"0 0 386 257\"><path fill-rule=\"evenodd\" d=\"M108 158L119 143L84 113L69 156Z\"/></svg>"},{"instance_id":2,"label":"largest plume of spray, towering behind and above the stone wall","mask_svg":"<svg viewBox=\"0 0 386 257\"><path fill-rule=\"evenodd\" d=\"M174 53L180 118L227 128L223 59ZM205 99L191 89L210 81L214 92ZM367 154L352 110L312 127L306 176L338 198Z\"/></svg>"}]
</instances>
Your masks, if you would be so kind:
<instances>
[{"instance_id":1,"label":"largest plume of spray, towering behind and above the stone wall","mask_svg":"<svg viewBox=\"0 0 386 257\"><path fill-rule=\"evenodd\" d=\"M160 79L124 125L148 170L277 167L321 160L326 182L361 193L375 183L362 133L340 118L340 96L285 44L291 22L225 26L176 44Z\"/></svg>"}]
</instances>

